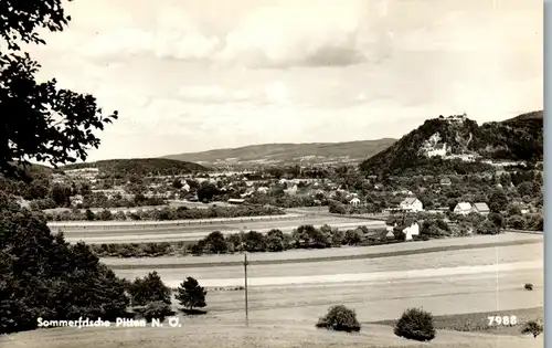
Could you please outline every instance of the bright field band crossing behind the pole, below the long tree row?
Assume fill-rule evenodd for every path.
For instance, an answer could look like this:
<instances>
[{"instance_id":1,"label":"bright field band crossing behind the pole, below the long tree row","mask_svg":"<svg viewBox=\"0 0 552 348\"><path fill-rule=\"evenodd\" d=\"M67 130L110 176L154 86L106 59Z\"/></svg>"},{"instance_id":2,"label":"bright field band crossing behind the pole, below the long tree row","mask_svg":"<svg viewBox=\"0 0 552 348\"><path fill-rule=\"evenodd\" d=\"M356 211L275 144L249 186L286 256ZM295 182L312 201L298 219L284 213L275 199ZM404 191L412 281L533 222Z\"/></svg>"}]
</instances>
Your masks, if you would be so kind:
<instances>
[{"instance_id":1,"label":"bright field band crossing behind the pole, below the long tree row","mask_svg":"<svg viewBox=\"0 0 552 348\"><path fill-rule=\"evenodd\" d=\"M531 267L534 265L542 267L542 244L533 243L364 260L359 259L320 261L309 263L297 262L286 264L259 264L248 267L248 276L250 282L255 282L256 277L323 277L330 275L335 276L337 274L376 274L382 272L403 272L407 276L408 272L415 272L417 270L437 270L470 266L505 267L506 264L511 263L529 263ZM229 280L232 280L232 282L242 282L243 278L243 265L216 267L194 267L193 265L182 265L174 268L142 267L134 270L115 270L115 272L120 276L134 278L136 276L142 276L153 270L158 271L163 281L169 284L174 284L174 282L179 282L188 275L194 276L200 281L212 284L210 286L224 286L224 284L226 284ZM460 268L460 271L463 268Z\"/></svg>"}]
</instances>

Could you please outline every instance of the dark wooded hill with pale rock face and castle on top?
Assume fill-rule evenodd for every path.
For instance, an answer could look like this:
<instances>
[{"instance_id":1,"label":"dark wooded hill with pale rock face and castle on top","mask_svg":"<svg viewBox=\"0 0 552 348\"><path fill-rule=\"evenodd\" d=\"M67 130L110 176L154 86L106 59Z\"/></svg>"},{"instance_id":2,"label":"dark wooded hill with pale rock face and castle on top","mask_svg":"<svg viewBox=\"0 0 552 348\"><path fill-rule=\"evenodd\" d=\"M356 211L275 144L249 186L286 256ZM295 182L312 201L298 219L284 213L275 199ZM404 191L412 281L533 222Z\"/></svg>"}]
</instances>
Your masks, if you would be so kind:
<instances>
[{"instance_id":1,"label":"dark wooded hill with pale rock face and castle on top","mask_svg":"<svg viewBox=\"0 0 552 348\"><path fill-rule=\"evenodd\" d=\"M543 112L522 114L479 126L466 115L427 119L360 168L376 176L459 172L471 161L542 161Z\"/></svg>"}]
</instances>

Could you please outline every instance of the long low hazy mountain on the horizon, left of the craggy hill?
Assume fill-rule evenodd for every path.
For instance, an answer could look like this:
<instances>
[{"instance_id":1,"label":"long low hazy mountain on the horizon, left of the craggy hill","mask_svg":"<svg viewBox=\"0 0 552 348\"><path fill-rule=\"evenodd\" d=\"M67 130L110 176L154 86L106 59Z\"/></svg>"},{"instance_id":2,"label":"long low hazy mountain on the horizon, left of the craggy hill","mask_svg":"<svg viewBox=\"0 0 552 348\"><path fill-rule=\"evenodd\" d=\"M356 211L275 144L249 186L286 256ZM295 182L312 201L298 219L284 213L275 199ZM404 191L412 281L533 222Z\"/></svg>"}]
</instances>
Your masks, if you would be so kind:
<instances>
[{"instance_id":1,"label":"long low hazy mountain on the horizon, left of the craggy hill","mask_svg":"<svg viewBox=\"0 0 552 348\"><path fill-rule=\"evenodd\" d=\"M396 139L347 143L263 144L238 148L215 149L163 156L162 158L198 162L201 165L278 165L361 162L389 148Z\"/></svg>"}]
</instances>

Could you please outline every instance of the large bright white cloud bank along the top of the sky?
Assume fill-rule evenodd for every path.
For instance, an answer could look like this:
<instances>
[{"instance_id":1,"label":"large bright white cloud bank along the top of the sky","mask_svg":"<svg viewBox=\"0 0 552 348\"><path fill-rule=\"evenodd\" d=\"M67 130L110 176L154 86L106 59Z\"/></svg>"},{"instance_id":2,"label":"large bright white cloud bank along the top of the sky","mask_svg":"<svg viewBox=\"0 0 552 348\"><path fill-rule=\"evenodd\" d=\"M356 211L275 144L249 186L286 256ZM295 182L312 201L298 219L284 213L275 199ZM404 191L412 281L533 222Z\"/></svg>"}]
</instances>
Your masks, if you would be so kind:
<instances>
[{"instance_id":1,"label":"large bright white cloud bank along the top of the sky","mask_svg":"<svg viewBox=\"0 0 552 348\"><path fill-rule=\"evenodd\" d=\"M110 62L153 55L248 67L350 65L370 55L367 40L361 38L367 34L365 3L282 0L242 11L233 25L214 31L209 29L216 23L192 18L185 4L160 0L159 7L114 7L108 20L116 22L120 17L123 25L104 23L102 30L77 25L61 34L64 42L57 41L57 46L68 45L83 56ZM91 3L84 1L84 6ZM84 15L83 8L74 9ZM142 21L132 21L129 12Z\"/></svg>"}]
</instances>

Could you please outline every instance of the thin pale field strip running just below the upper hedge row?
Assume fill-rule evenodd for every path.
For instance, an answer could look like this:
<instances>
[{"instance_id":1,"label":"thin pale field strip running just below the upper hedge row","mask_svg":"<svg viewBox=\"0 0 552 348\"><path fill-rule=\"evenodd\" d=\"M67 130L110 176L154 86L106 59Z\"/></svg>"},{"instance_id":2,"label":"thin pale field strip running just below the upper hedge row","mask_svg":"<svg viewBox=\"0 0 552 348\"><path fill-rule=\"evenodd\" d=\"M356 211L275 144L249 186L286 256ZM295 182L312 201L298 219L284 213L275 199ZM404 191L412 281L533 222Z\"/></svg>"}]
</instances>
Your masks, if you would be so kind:
<instances>
[{"instance_id":1,"label":"thin pale field strip running just below the upper hedge row","mask_svg":"<svg viewBox=\"0 0 552 348\"><path fill-rule=\"evenodd\" d=\"M141 226L172 226L172 225L193 225L202 223L236 223L236 222L256 222L272 220L291 220L304 217L305 214L293 213L282 215L261 215L261 217L238 217L238 218L213 218L213 219L182 219L167 221L51 221L47 226L51 229L131 229Z\"/></svg>"}]
</instances>

